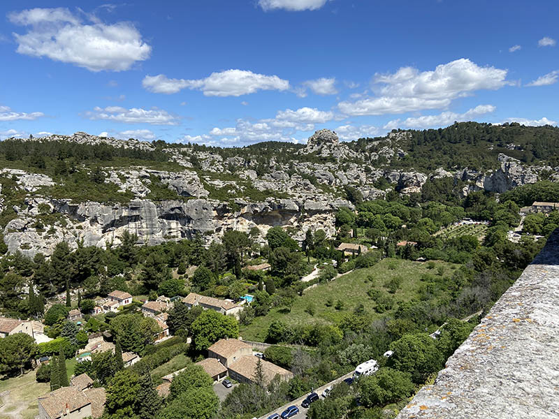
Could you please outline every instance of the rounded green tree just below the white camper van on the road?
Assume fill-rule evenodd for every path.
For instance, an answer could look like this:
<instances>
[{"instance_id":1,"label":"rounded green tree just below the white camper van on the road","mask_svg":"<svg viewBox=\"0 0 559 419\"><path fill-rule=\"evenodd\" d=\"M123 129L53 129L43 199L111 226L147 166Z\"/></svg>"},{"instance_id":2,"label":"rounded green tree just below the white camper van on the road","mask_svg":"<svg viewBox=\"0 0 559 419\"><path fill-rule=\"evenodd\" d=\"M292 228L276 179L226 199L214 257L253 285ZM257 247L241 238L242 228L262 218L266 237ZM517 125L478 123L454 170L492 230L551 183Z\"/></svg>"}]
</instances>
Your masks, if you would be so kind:
<instances>
[{"instance_id":1,"label":"rounded green tree just below the white camper van on the road","mask_svg":"<svg viewBox=\"0 0 559 419\"><path fill-rule=\"evenodd\" d=\"M381 368L374 375L361 377L358 382L364 406L385 406L406 399L414 392L412 377L391 368Z\"/></svg>"}]
</instances>

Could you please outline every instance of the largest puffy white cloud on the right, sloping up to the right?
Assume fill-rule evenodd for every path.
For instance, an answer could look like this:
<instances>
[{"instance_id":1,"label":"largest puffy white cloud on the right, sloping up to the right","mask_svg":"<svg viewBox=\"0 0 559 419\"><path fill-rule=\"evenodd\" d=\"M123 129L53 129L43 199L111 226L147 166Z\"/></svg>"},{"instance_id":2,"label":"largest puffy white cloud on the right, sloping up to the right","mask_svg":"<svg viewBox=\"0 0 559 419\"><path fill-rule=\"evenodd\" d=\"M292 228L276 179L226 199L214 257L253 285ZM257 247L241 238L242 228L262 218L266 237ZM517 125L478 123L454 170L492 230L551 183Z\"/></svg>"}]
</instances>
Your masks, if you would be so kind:
<instances>
[{"instance_id":1,"label":"largest puffy white cloud on the right, sloping up to the right","mask_svg":"<svg viewBox=\"0 0 559 419\"><path fill-rule=\"evenodd\" d=\"M446 108L456 98L480 89L500 89L507 70L480 67L469 59L440 64L434 71L420 72L402 67L392 74L376 74L379 96L343 101L338 108L345 115L385 115L425 109Z\"/></svg>"}]
</instances>

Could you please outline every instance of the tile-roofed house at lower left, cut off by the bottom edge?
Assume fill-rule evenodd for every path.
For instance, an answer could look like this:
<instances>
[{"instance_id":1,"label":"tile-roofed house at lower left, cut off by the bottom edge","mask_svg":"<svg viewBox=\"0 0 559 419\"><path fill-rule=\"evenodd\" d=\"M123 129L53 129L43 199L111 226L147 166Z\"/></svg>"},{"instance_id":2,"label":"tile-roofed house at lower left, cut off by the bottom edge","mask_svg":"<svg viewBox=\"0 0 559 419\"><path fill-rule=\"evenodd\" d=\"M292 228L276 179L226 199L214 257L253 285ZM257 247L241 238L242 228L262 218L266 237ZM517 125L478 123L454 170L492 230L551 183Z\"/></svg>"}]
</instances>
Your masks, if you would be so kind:
<instances>
[{"instance_id":1,"label":"tile-roofed house at lower left, cut off by the bottom edge","mask_svg":"<svg viewBox=\"0 0 559 419\"><path fill-rule=\"evenodd\" d=\"M38 398L38 419L83 419L93 416L92 402L77 387L62 387Z\"/></svg>"}]
</instances>

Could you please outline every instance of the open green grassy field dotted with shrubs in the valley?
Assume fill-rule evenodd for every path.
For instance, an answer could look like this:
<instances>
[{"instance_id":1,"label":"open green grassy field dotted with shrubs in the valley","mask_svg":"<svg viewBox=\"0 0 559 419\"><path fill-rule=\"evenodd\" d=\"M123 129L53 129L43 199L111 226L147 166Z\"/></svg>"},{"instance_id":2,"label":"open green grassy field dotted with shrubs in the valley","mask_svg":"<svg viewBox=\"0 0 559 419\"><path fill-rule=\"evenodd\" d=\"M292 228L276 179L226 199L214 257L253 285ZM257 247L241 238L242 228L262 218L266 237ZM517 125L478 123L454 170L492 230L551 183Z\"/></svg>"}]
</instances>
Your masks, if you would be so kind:
<instances>
[{"instance_id":1,"label":"open green grassy field dotted with shrubs in the valley","mask_svg":"<svg viewBox=\"0 0 559 419\"><path fill-rule=\"evenodd\" d=\"M434 266L433 266L434 265ZM412 262L410 260L386 258L381 260L377 265L365 269L355 270L348 274L342 275L326 284L319 284L311 288L298 297L291 308L291 312L285 313L282 309L273 308L263 317L256 317L252 324L248 326L240 326L240 335L243 339L264 341L268 326L275 320L282 320L291 325L303 325L312 323L335 324L338 323L345 314L352 312L359 304L363 304L365 309L373 314L376 318L385 316L386 314L377 314L375 312L375 302L367 295L367 291L371 288L386 291L385 284L394 277L400 277L402 283L398 291L394 294L396 305L391 313L397 308L398 302L412 300L418 296L421 274L429 273L435 277L440 277L440 269L444 270L442 275L449 275L451 270L456 269L459 265L435 260L431 262L421 263ZM431 269L429 269L431 267ZM368 280L372 279L372 282ZM328 299L333 299L332 307L327 307ZM344 302L343 309L335 309L335 302L342 300ZM314 316L308 314L305 309L309 304L314 304Z\"/></svg>"}]
</instances>

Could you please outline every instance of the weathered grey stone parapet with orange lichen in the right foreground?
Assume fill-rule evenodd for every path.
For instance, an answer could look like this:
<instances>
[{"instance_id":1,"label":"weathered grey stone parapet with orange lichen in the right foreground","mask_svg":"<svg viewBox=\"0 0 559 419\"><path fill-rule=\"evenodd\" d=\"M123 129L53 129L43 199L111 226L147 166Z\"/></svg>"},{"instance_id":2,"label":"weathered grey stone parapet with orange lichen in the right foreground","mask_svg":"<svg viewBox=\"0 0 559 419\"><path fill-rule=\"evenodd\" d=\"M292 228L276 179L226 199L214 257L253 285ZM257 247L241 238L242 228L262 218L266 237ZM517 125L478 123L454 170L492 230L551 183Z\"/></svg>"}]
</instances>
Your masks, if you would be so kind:
<instances>
[{"instance_id":1,"label":"weathered grey stone parapet with orange lichen in the right foreground","mask_svg":"<svg viewBox=\"0 0 559 419\"><path fill-rule=\"evenodd\" d=\"M559 229L397 419L559 418Z\"/></svg>"}]
</instances>

